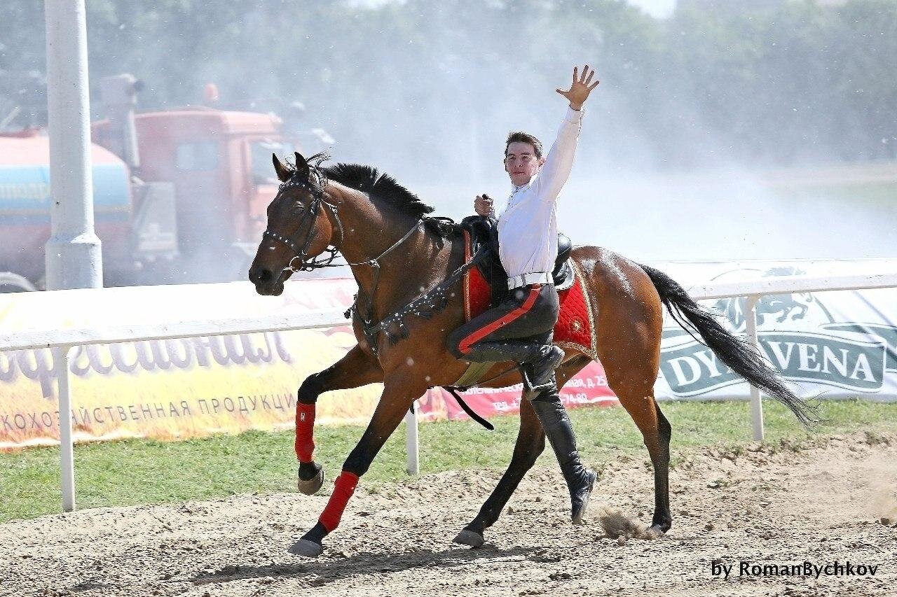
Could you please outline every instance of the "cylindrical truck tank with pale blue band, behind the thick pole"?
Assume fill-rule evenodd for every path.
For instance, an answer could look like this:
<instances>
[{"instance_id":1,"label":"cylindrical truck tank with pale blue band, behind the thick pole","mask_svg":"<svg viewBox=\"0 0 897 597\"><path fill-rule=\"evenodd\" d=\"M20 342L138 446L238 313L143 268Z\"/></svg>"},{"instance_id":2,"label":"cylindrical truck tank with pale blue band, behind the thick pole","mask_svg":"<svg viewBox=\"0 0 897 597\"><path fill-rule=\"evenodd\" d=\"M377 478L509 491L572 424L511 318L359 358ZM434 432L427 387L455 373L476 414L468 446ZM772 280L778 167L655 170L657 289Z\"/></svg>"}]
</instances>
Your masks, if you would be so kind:
<instances>
[{"instance_id":1,"label":"cylindrical truck tank with pale blue band, behind the thick pole","mask_svg":"<svg viewBox=\"0 0 897 597\"><path fill-rule=\"evenodd\" d=\"M124 161L91 146L94 227L103 262L127 252L132 198ZM50 236L49 139L37 131L0 135L0 272L44 276Z\"/></svg>"}]
</instances>

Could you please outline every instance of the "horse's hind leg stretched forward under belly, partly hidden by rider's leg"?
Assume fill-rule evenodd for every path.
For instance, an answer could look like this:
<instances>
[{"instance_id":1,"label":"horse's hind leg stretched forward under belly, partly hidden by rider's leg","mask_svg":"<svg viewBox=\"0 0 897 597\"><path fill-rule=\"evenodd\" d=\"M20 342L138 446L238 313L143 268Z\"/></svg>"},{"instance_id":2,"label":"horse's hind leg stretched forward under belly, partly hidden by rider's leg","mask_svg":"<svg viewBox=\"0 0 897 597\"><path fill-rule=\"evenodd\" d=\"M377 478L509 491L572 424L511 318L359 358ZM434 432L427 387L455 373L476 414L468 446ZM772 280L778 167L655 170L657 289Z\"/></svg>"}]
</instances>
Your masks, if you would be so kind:
<instances>
[{"instance_id":1,"label":"horse's hind leg stretched forward under belly, partly hidden by rider's leg","mask_svg":"<svg viewBox=\"0 0 897 597\"><path fill-rule=\"evenodd\" d=\"M589 361L588 357L579 356L558 368L555 373L558 387L563 387L567 380L579 373L582 368L588 365ZM501 480L499 480L499 484L492 490L492 495L483 503L479 514L464 530L458 533L455 538L456 543L470 545L471 547L483 545L483 532L499 519L501 510L508 504L508 500L518 488L520 480L533 467L539 454L542 454L544 449L545 434L542 429L542 423L536 417L533 405L529 401L524 400L520 402L520 430L508 470L505 471L501 476Z\"/></svg>"}]
</instances>

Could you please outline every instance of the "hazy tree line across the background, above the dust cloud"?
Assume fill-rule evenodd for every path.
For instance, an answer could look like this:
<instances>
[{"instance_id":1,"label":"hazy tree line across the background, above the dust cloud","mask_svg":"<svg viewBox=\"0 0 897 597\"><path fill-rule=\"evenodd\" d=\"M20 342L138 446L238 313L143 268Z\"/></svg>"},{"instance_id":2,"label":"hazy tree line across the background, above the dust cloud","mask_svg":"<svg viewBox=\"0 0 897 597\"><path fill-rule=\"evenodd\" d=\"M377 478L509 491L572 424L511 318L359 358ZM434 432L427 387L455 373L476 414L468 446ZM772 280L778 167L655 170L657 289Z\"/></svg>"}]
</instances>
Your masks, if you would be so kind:
<instances>
[{"instance_id":1,"label":"hazy tree line across the background, above the dust cloud","mask_svg":"<svg viewBox=\"0 0 897 597\"><path fill-rule=\"evenodd\" d=\"M222 106L327 129L341 160L497 164L511 128L556 124L553 89L586 59L602 80L588 118L601 143L588 159L606 169L897 157L892 0L680 0L666 19L616 0L88 0L87 10L91 91L130 72L146 82L142 109L167 108L216 82ZM8 128L46 121L42 11L36 0L0 7Z\"/></svg>"}]
</instances>

